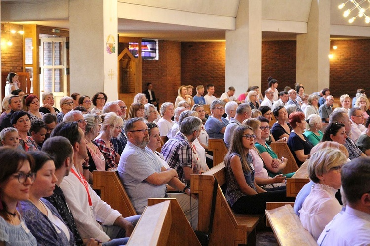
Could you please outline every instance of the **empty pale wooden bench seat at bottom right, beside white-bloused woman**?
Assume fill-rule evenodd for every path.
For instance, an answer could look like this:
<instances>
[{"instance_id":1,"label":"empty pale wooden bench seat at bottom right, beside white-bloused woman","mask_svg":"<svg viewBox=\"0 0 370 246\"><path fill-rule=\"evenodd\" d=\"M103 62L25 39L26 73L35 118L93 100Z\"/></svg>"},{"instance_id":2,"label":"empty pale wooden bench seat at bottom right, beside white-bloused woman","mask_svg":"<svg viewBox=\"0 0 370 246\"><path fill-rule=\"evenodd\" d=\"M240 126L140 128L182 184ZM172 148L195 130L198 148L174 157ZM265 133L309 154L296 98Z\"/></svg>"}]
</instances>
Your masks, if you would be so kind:
<instances>
[{"instance_id":1,"label":"empty pale wooden bench seat at bottom right, beside white-bloused woman","mask_svg":"<svg viewBox=\"0 0 370 246\"><path fill-rule=\"evenodd\" d=\"M317 246L311 234L302 226L291 205L266 210L266 217L279 245Z\"/></svg>"}]
</instances>

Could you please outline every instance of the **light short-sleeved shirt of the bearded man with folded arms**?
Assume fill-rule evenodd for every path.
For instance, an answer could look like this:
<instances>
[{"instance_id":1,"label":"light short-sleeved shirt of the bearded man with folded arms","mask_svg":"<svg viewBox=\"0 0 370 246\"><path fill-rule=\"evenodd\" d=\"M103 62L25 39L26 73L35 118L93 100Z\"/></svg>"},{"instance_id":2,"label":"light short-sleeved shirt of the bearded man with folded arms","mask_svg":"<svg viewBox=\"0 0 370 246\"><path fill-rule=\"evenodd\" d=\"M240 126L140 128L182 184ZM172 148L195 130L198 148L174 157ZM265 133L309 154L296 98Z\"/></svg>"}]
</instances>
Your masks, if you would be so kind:
<instances>
[{"instance_id":1,"label":"light short-sleeved shirt of the bearded man with folded arms","mask_svg":"<svg viewBox=\"0 0 370 246\"><path fill-rule=\"evenodd\" d=\"M138 214L143 213L149 197L166 196L166 185L150 184L145 179L160 173L163 165L148 148L127 142L118 165L118 175Z\"/></svg>"}]
</instances>

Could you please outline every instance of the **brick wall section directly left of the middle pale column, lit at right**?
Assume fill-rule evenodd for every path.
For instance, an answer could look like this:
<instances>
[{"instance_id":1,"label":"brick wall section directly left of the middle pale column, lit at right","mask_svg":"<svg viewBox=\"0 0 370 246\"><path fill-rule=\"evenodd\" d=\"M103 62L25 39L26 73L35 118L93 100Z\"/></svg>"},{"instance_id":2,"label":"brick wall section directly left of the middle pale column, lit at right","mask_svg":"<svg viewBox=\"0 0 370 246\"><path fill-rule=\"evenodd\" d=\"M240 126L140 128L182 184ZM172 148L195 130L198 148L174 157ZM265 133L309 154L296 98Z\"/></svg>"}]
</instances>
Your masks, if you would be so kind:
<instances>
[{"instance_id":1,"label":"brick wall section directly left of the middle pale column, lit at right","mask_svg":"<svg viewBox=\"0 0 370 246\"><path fill-rule=\"evenodd\" d=\"M225 92L225 42L182 42L181 83L215 85L215 96ZM205 92L205 94L207 91ZM196 94L193 89L193 96Z\"/></svg>"}]
</instances>

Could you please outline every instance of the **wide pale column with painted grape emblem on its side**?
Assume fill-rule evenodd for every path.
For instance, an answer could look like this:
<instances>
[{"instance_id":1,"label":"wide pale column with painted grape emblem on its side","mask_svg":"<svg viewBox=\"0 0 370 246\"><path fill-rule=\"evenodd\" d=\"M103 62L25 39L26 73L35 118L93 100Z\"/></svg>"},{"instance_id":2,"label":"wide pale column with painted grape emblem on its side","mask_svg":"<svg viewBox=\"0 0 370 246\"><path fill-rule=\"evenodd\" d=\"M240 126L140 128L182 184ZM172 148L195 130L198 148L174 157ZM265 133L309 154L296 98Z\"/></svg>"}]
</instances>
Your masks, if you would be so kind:
<instances>
[{"instance_id":1,"label":"wide pale column with painted grape emblem on its side","mask_svg":"<svg viewBox=\"0 0 370 246\"><path fill-rule=\"evenodd\" d=\"M70 93L118 99L117 0L70 1Z\"/></svg>"}]
</instances>

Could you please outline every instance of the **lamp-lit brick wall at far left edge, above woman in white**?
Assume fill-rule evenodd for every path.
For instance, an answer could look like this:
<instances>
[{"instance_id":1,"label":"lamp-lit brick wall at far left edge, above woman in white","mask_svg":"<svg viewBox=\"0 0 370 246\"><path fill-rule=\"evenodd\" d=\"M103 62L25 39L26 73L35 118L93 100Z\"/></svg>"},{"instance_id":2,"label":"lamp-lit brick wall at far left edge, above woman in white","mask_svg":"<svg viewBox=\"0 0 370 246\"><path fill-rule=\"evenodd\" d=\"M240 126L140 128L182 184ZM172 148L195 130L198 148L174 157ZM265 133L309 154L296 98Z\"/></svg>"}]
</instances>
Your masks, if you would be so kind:
<instances>
[{"instance_id":1,"label":"lamp-lit brick wall at far left edge, above woman in white","mask_svg":"<svg viewBox=\"0 0 370 246\"><path fill-rule=\"evenodd\" d=\"M9 33L9 29L22 30L22 25L1 24L1 72L23 72L23 36ZM9 39L11 46L6 44Z\"/></svg>"}]
</instances>

